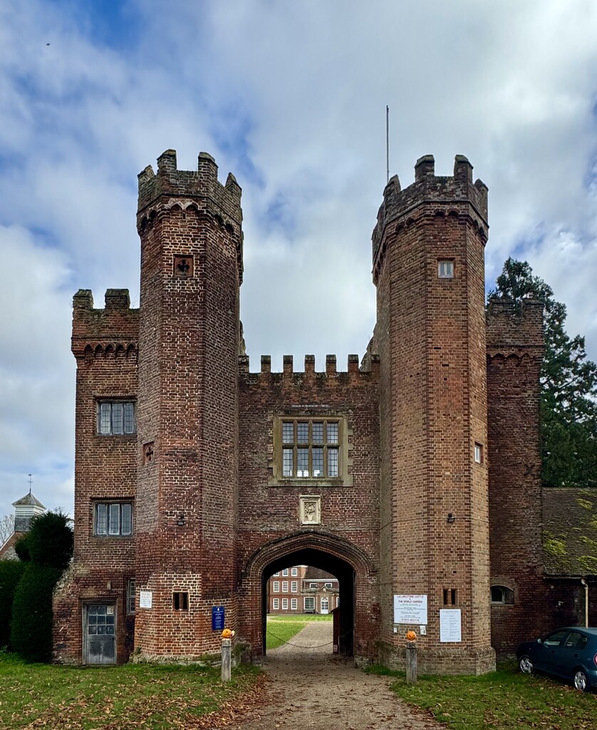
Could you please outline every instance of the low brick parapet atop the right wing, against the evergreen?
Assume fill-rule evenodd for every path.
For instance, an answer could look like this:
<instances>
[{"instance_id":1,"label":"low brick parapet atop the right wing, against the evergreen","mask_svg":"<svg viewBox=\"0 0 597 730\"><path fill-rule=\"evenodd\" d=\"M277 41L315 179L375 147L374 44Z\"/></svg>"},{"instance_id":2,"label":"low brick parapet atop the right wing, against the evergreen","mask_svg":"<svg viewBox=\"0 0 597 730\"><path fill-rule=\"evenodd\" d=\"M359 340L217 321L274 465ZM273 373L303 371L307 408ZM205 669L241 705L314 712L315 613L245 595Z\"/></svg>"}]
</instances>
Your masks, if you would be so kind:
<instances>
[{"instance_id":1,"label":"low brick parapet atop the right wing, against the evergreen","mask_svg":"<svg viewBox=\"0 0 597 730\"><path fill-rule=\"evenodd\" d=\"M519 304L513 299L492 297L485 313L488 353L517 349L542 353L543 308L543 302L534 299L523 299Z\"/></svg>"}]
</instances>

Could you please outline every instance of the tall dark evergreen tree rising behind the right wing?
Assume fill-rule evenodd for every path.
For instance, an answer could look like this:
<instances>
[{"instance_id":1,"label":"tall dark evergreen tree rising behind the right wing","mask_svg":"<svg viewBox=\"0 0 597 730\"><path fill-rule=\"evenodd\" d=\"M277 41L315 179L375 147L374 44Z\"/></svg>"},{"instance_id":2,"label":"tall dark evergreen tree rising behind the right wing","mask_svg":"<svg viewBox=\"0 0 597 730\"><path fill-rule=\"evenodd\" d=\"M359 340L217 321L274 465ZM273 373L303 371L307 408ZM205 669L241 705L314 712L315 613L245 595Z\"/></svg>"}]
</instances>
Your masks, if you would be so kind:
<instances>
[{"instance_id":1,"label":"tall dark evergreen tree rising behind the right wing","mask_svg":"<svg viewBox=\"0 0 597 730\"><path fill-rule=\"evenodd\" d=\"M587 358L585 338L566 334L566 306L526 261L508 258L489 296L544 302L543 484L597 487L597 365Z\"/></svg>"}]
</instances>

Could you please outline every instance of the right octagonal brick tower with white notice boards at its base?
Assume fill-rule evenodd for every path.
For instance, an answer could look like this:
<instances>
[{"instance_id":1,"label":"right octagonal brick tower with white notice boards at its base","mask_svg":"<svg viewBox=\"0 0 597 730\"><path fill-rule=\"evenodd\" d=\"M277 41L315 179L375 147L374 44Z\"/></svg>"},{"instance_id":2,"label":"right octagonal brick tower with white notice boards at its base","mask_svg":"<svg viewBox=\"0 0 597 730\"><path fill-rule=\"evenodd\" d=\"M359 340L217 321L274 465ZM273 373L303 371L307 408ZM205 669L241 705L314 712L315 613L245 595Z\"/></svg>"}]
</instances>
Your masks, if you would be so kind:
<instances>
[{"instance_id":1,"label":"right octagonal brick tower with white notice boards at its base","mask_svg":"<svg viewBox=\"0 0 597 730\"><path fill-rule=\"evenodd\" d=\"M484 248L487 188L425 155L385 188L373 232L380 354L382 661L401 664L394 596L426 596L419 664L483 672L490 647ZM401 602L402 599L398 599ZM441 623L441 626L440 626ZM423 625L423 623L421 623ZM415 623L408 628L420 631ZM423 632L421 632L423 634ZM383 656L385 655L385 656Z\"/></svg>"}]
</instances>

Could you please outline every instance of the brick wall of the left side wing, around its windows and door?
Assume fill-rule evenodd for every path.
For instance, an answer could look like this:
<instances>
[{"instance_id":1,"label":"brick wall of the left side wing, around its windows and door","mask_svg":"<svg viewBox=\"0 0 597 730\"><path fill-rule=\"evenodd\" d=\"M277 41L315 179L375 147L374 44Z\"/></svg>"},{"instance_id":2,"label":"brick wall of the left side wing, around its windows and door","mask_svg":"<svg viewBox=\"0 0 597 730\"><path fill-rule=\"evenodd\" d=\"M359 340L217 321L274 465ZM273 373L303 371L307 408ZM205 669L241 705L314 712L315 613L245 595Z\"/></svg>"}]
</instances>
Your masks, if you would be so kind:
<instances>
[{"instance_id":1,"label":"brick wall of the left side wing, around its windows and door","mask_svg":"<svg viewBox=\"0 0 597 730\"><path fill-rule=\"evenodd\" d=\"M118 659L128 658L125 597L126 579L134 575L134 538L94 536L93 500L134 500L136 495L136 436L100 436L97 404L99 399L136 399L138 333L139 310L129 308L128 291L109 289L101 310L93 309L90 291L74 296L75 566L55 592L56 661L81 661L82 604L96 599L117 604Z\"/></svg>"}]
</instances>

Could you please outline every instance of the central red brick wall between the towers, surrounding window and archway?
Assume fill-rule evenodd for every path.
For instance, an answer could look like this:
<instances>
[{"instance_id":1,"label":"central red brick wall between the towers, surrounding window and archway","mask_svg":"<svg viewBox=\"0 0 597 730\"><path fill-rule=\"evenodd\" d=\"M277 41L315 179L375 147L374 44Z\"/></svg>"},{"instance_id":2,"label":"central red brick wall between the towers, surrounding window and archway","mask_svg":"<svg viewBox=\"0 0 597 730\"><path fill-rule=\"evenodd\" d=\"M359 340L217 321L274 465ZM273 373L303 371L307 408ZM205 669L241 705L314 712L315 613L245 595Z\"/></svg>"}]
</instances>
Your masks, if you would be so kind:
<instances>
[{"instance_id":1,"label":"central red brick wall between the towers, surrounding window and archway","mask_svg":"<svg viewBox=\"0 0 597 730\"><path fill-rule=\"evenodd\" d=\"M360 372L358 359L350 358L348 372L336 372L335 358L329 356L327 372L315 372L312 358L307 358L307 372L293 372L292 360L287 356L282 373L269 372L269 358L263 358L261 372L250 373L248 358L241 358L239 569L245 577L239 626L256 656L261 653L263 642L261 623L255 621L261 615L261 570L266 571L272 560L298 550L290 547L294 540L301 550L318 552L323 560L319 567L323 569L334 572L329 565L337 551L336 555L355 570L355 656L375 656L379 606L377 581L372 572L379 555L379 363L374 361L371 372ZM344 458L350 458L351 486L347 480L339 485L301 479L275 483L274 459L278 457L274 453L274 417L301 415L344 419L349 449ZM298 498L306 494L321 496L320 525L300 523ZM352 552L348 554L346 550ZM326 562L328 551L330 557ZM261 553L271 558L255 569ZM286 565L291 560L289 557ZM342 590L341 580L341 608Z\"/></svg>"}]
</instances>

